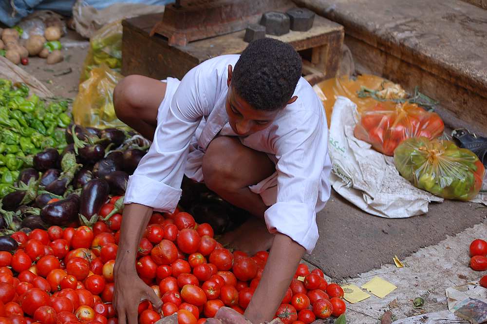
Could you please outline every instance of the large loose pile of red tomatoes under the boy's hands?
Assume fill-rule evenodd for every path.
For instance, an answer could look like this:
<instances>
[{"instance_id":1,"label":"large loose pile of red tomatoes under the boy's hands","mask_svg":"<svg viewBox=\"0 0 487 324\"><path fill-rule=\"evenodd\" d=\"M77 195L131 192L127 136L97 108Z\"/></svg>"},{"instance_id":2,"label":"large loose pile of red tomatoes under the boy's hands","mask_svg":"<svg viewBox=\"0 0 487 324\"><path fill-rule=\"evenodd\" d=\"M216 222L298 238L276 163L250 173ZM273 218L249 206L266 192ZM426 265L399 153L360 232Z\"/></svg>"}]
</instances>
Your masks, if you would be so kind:
<instances>
[{"instance_id":1,"label":"large loose pile of red tomatoes under the boy's hands","mask_svg":"<svg viewBox=\"0 0 487 324\"><path fill-rule=\"evenodd\" d=\"M113 197L100 211L113 209ZM12 234L13 255L0 252L0 324L117 324L113 266L122 215L93 229L53 226ZM142 238L136 270L163 302L162 314L148 302L139 323L153 324L178 313L179 324L202 324L228 306L244 313L259 284L268 253L247 256L223 248L209 224L186 212L154 213ZM319 269L300 265L276 317L284 324L310 324L345 312L343 290L328 285Z\"/></svg>"}]
</instances>

